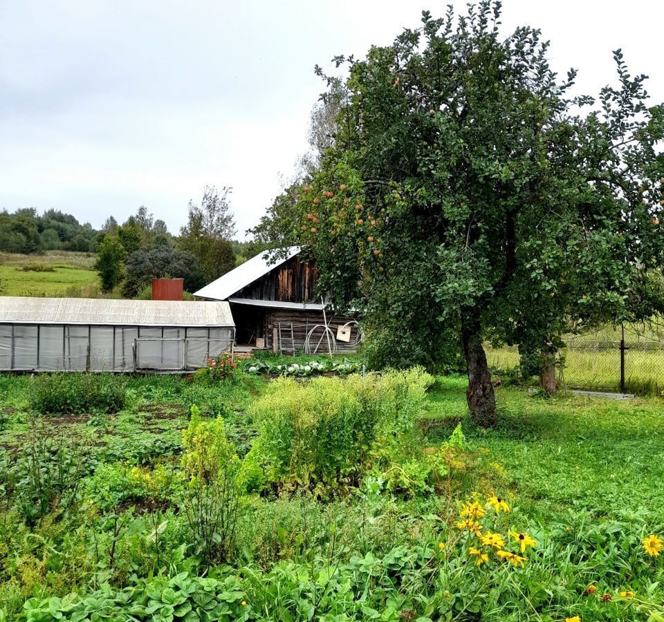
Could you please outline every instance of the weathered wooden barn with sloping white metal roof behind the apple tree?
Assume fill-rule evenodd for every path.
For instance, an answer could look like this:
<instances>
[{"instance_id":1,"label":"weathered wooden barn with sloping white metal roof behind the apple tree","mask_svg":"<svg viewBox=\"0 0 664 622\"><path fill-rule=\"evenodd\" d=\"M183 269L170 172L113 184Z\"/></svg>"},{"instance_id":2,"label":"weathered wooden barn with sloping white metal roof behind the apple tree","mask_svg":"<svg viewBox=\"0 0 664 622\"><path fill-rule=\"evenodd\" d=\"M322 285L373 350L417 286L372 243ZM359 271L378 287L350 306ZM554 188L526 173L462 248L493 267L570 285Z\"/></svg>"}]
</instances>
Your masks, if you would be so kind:
<instances>
[{"instance_id":1,"label":"weathered wooden barn with sloping white metal roof behind the apple tree","mask_svg":"<svg viewBox=\"0 0 664 622\"><path fill-rule=\"evenodd\" d=\"M315 300L318 272L299 253L299 247L291 247L284 258L258 254L195 292L198 298L230 303L237 351L314 354L353 352L358 346L356 319Z\"/></svg>"}]
</instances>

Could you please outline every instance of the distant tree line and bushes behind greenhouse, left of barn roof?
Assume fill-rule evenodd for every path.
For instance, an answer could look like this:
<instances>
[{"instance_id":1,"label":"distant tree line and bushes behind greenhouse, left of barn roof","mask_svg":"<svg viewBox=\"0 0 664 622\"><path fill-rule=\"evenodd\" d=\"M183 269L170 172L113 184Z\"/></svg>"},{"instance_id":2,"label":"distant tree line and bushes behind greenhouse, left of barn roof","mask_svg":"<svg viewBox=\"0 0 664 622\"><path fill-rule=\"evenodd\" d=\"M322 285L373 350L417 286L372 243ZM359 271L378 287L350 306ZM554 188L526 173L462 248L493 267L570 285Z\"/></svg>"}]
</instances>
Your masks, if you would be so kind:
<instances>
[{"instance_id":1,"label":"distant tree line and bushes behind greenhouse, left of barn roof","mask_svg":"<svg viewBox=\"0 0 664 622\"><path fill-rule=\"evenodd\" d=\"M147 296L152 279L163 278L184 279L185 291L195 292L263 249L234 241L230 193L227 187L205 187L199 203L189 202L187 223L179 236L172 235L144 205L122 225L109 216L99 231L53 209L41 216L36 209L3 211L0 251L94 252L102 291L125 298Z\"/></svg>"}]
</instances>

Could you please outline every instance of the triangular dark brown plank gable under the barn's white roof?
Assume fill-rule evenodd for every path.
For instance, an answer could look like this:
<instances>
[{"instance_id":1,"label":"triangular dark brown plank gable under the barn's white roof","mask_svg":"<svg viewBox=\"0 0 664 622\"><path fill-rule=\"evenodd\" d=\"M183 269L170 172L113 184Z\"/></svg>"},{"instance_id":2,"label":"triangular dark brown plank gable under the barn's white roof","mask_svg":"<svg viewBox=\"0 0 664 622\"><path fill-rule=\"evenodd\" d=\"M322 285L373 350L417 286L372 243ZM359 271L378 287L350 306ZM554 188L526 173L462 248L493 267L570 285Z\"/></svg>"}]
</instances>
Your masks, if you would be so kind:
<instances>
[{"instance_id":1,"label":"triangular dark brown plank gable under the barn's white roof","mask_svg":"<svg viewBox=\"0 0 664 622\"><path fill-rule=\"evenodd\" d=\"M233 296L251 300L310 302L317 279L318 271L313 263L304 263L296 255Z\"/></svg>"}]
</instances>

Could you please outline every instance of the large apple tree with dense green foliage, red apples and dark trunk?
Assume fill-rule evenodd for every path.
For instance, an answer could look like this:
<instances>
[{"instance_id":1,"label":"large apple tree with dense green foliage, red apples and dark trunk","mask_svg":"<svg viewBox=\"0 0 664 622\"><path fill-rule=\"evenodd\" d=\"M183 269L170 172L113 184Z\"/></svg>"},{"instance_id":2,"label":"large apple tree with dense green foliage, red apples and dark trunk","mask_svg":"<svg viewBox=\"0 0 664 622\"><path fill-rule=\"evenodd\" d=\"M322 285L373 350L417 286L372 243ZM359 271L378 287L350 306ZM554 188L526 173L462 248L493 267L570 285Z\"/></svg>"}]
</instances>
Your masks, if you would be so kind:
<instances>
[{"instance_id":1,"label":"large apple tree with dense green foliage, red apples and dark trunk","mask_svg":"<svg viewBox=\"0 0 664 622\"><path fill-rule=\"evenodd\" d=\"M664 109L646 106L645 77L618 51L618 85L573 96L540 31L504 37L499 13L425 12L394 44L336 59L333 144L255 231L315 257L321 290L366 310L383 364L435 361L457 334L482 426L497 416L483 342L546 367L570 328L629 315L664 237Z\"/></svg>"}]
</instances>

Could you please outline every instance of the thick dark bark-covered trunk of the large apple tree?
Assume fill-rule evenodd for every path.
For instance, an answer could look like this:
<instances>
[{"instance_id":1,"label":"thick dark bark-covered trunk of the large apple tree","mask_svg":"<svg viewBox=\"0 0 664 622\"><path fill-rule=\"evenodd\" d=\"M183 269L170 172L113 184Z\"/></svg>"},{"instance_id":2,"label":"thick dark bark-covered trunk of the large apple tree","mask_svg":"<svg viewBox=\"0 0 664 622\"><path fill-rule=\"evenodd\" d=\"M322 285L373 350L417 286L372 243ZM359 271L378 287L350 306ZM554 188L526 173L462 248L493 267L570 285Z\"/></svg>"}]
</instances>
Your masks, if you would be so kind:
<instances>
[{"instance_id":1,"label":"thick dark bark-covered trunk of the large apple tree","mask_svg":"<svg viewBox=\"0 0 664 622\"><path fill-rule=\"evenodd\" d=\"M461 310L461 341L468 365L468 392L466 401L474 424L482 428L497 422L496 397L482 346L479 317L473 309Z\"/></svg>"}]
</instances>

